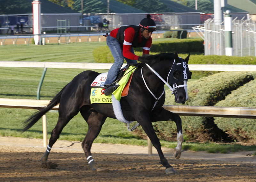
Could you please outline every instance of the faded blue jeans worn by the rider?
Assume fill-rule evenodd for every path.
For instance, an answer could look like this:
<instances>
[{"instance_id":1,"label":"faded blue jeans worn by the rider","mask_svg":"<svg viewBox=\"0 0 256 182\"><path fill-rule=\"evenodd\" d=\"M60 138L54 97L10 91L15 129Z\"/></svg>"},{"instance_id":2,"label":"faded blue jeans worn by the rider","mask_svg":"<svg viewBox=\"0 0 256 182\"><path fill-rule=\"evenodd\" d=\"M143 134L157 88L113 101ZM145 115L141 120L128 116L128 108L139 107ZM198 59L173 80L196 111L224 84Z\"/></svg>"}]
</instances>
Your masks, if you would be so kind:
<instances>
[{"instance_id":1,"label":"faded blue jeans worn by the rider","mask_svg":"<svg viewBox=\"0 0 256 182\"><path fill-rule=\"evenodd\" d=\"M108 76L104 85L110 85L116 80L118 71L121 69L122 65L124 64L124 59L127 62L127 64L137 63L136 60L131 60L123 56L123 49L122 49L123 45L120 45L120 43L116 38L108 35L107 45L111 51L111 54L114 57L115 62L113 63L111 68L108 70ZM134 54L133 48L131 49L131 52Z\"/></svg>"}]
</instances>

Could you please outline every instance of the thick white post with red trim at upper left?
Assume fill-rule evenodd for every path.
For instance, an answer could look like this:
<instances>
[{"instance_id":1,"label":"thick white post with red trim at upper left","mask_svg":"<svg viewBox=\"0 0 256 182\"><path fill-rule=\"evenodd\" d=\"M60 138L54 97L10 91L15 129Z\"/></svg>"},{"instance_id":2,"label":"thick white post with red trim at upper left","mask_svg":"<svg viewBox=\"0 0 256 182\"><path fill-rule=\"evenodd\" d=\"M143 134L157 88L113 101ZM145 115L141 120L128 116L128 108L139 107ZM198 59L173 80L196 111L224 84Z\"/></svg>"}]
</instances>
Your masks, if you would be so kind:
<instances>
[{"instance_id":1,"label":"thick white post with red trim at upper left","mask_svg":"<svg viewBox=\"0 0 256 182\"><path fill-rule=\"evenodd\" d=\"M41 45L41 2L35 0L32 2L33 5L33 34L36 45Z\"/></svg>"}]
</instances>

